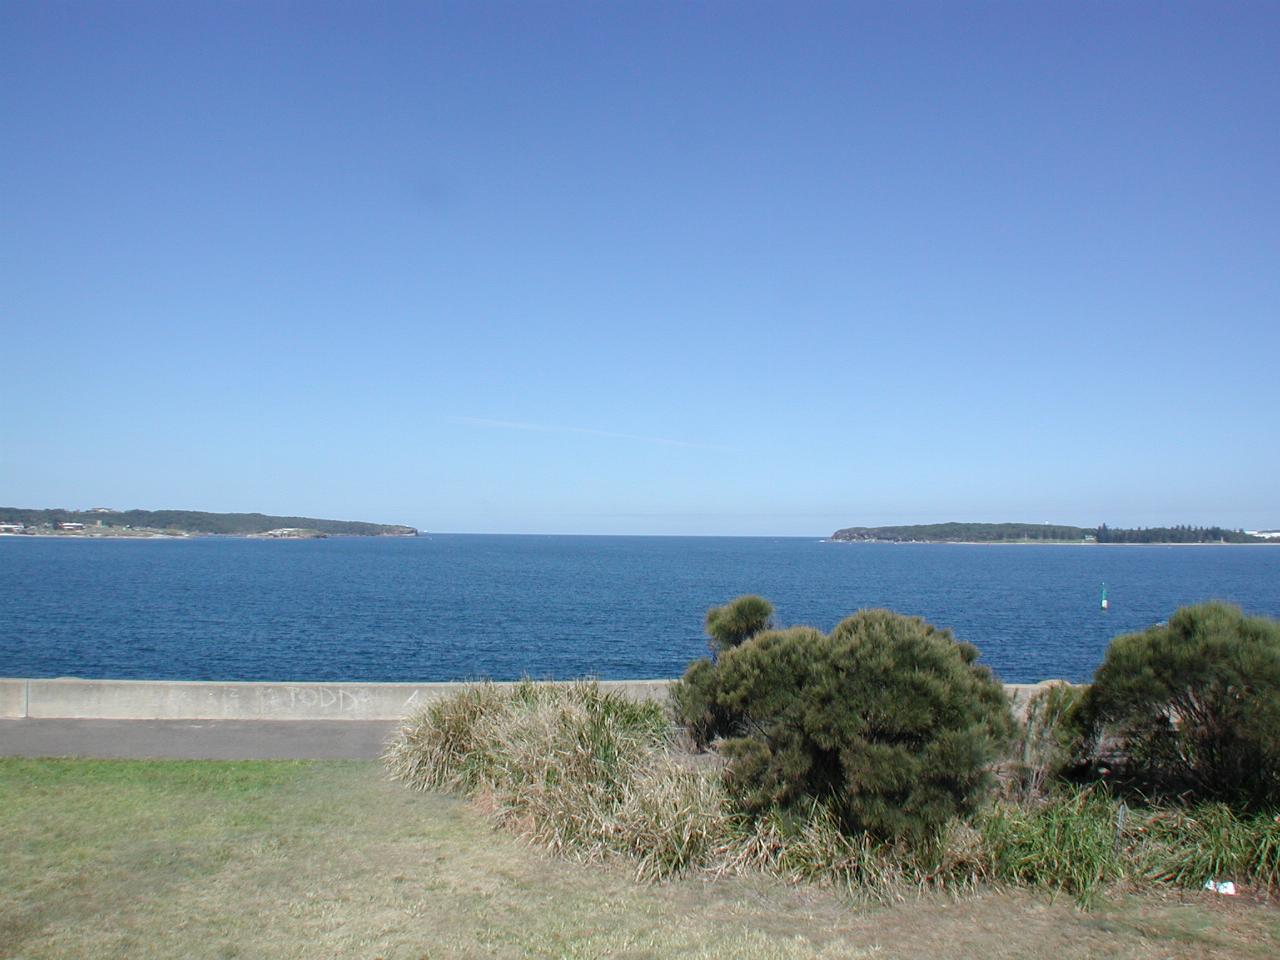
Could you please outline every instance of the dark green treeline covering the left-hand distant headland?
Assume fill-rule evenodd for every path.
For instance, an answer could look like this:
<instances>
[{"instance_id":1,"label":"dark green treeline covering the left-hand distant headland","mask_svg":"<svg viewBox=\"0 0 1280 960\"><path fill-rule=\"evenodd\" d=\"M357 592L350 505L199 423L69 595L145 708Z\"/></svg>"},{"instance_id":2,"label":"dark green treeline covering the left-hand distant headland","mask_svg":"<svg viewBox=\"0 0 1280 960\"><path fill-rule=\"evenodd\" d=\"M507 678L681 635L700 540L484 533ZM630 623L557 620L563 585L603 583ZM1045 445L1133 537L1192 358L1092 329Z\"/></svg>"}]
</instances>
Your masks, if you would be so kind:
<instances>
[{"instance_id":1,"label":"dark green treeline covering the left-hand distant headland","mask_svg":"<svg viewBox=\"0 0 1280 960\"><path fill-rule=\"evenodd\" d=\"M265 513L204 513L193 509L24 509L0 507L0 524L49 526L58 524L83 524L105 527L140 527L154 530L180 530L187 534L265 534L280 527L319 530L337 536L412 536L411 526L398 524L365 524L358 520L317 520L315 517L271 517Z\"/></svg>"}]
</instances>

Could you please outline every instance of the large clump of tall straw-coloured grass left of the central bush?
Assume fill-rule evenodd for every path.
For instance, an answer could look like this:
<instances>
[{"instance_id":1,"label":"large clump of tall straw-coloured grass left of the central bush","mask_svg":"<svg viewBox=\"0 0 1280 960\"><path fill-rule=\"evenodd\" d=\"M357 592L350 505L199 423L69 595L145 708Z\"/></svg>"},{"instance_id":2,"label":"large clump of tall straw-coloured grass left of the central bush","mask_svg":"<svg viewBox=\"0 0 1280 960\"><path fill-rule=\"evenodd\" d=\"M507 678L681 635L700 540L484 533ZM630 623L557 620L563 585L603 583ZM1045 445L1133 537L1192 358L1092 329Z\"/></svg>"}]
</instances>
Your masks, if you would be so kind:
<instances>
[{"instance_id":1,"label":"large clump of tall straw-coloured grass left of the central bush","mask_svg":"<svg viewBox=\"0 0 1280 960\"><path fill-rule=\"evenodd\" d=\"M480 685L406 719L384 759L553 852L627 856L660 878L701 865L723 829L719 780L678 762L673 732L660 704L596 684Z\"/></svg>"}]
</instances>

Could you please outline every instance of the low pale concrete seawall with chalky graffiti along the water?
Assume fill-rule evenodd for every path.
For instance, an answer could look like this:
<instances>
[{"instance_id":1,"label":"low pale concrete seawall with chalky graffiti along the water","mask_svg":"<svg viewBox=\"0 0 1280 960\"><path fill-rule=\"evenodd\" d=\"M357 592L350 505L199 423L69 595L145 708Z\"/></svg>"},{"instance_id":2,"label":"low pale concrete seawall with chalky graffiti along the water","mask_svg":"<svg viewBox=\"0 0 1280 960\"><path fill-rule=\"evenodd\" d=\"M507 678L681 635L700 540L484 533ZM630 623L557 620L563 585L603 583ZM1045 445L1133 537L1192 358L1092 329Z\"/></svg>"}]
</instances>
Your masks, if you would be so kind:
<instances>
[{"instance_id":1,"label":"low pale concrete seawall with chalky graffiti along the water","mask_svg":"<svg viewBox=\"0 0 1280 960\"><path fill-rule=\"evenodd\" d=\"M1051 681L1050 681L1051 682ZM669 680L604 680L636 700ZM269 684L187 680L4 680L0 717L31 719L394 721L467 684ZM499 686L512 686L499 684ZM1042 684L1006 684L1019 710Z\"/></svg>"}]
</instances>

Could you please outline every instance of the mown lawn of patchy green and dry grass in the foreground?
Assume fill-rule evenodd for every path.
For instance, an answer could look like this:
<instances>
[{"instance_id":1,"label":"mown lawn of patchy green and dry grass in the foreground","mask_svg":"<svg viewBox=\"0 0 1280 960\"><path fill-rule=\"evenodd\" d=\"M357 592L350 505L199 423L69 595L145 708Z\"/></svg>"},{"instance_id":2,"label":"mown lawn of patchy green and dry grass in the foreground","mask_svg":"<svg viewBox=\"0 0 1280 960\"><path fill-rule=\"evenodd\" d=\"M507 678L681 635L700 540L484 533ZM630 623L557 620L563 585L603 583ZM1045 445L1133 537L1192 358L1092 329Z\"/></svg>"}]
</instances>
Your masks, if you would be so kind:
<instances>
[{"instance_id":1,"label":"mown lawn of patchy green and dry grass in the foreground","mask_svg":"<svg viewBox=\"0 0 1280 960\"><path fill-rule=\"evenodd\" d=\"M859 906L552 860L371 763L0 759L3 957L1274 957L1280 909Z\"/></svg>"}]
</instances>

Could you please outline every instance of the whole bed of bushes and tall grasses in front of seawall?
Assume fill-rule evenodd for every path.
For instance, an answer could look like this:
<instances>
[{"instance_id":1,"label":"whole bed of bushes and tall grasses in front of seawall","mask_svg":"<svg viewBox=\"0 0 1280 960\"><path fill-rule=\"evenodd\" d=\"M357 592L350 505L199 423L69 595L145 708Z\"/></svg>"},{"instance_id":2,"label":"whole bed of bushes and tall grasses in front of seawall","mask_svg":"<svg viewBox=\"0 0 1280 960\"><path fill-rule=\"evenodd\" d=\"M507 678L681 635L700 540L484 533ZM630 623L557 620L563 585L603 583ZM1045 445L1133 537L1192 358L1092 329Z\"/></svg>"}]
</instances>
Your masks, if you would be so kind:
<instances>
[{"instance_id":1,"label":"whole bed of bushes and tall grasses in front of seawall","mask_svg":"<svg viewBox=\"0 0 1280 960\"><path fill-rule=\"evenodd\" d=\"M676 685L675 721L591 684L481 685L408 718L389 769L471 797L558 855L640 878L754 873L877 901L1001 886L1094 905L1105 891L1206 881L1280 892L1280 803L1266 786L1280 682L1208 666L1268 663L1276 623L1225 604L1180 611L1175 655L1134 666L1147 692L1108 690L1103 668L1098 692L1050 685L1015 721L977 650L947 631L887 611L827 635L777 630L762 604L739 598L708 617L716 655ZM765 616L724 646L717 626L749 609ZM1117 639L1108 662L1135 664L1137 646ZM1161 676L1170 684L1152 686ZM1143 792L1157 754L1138 736L1153 724L1114 709L1126 696L1248 788L1181 778L1181 792ZM1204 713L1183 730L1192 708Z\"/></svg>"}]
</instances>

